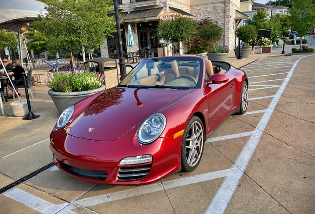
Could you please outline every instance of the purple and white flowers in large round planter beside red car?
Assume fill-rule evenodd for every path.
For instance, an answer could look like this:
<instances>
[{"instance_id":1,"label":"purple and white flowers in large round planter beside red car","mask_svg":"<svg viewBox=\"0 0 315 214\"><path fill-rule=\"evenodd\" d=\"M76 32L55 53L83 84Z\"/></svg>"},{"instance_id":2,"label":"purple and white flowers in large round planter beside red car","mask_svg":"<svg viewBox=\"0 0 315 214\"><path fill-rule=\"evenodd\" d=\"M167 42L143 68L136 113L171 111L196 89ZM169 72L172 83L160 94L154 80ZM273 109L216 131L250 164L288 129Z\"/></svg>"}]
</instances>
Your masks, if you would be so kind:
<instances>
[{"instance_id":1,"label":"purple and white flowers in large round planter beside red car","mask_svg":"<svg viewBox=\"0 0 315 214\"><path fill-rule=\"evenodd\" d=\"M47 86L51 88L48 94L61 114L64 109L78 101L104 91L104 80L104 75L88 69L83 69L76 74L71 70L57 69L52 75L48 74Z\"/></svg>"}]
</instances>

